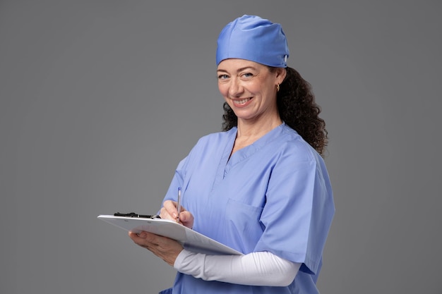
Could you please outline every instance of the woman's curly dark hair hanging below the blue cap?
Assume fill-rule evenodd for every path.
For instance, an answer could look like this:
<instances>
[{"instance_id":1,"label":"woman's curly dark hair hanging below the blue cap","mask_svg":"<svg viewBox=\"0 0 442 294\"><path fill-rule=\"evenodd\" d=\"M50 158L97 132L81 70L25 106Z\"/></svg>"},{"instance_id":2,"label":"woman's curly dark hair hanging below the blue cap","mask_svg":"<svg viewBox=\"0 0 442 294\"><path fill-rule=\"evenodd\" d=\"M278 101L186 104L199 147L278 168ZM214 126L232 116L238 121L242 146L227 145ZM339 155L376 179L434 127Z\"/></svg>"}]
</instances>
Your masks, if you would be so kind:
<instances>
[{"instance_id":1,"label":"woman's curly dark hair hanging below the blue cap","mask_svg":"<svg viewBox=\"0 0 442 294\"><path fill-rule=\"evenodd\" d=\"M270 71L275 68L269 67ZM319 118L321 107L316 104L311 85L294 68L286 68L287 75L277 92L277 109L280 118L294 129L323 156L328 144L325 121ZM222 130L230 130L238 124L238 118L227 104L223 105Z\"/></svg>"}]
</instances>

